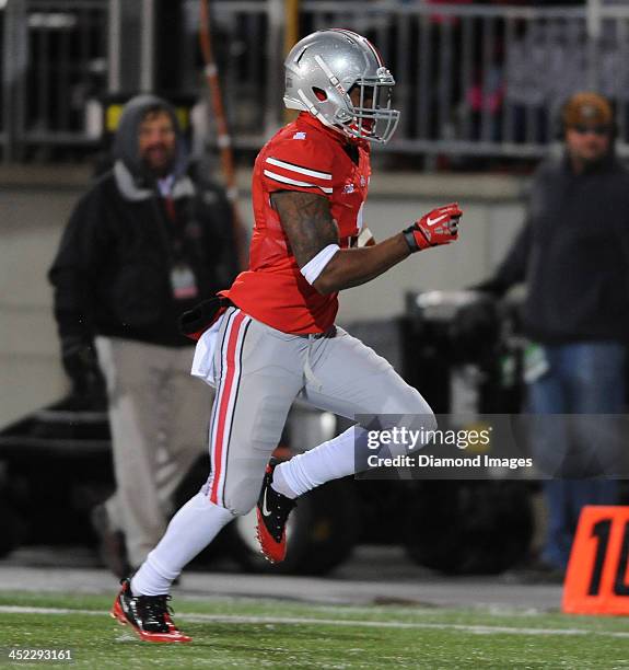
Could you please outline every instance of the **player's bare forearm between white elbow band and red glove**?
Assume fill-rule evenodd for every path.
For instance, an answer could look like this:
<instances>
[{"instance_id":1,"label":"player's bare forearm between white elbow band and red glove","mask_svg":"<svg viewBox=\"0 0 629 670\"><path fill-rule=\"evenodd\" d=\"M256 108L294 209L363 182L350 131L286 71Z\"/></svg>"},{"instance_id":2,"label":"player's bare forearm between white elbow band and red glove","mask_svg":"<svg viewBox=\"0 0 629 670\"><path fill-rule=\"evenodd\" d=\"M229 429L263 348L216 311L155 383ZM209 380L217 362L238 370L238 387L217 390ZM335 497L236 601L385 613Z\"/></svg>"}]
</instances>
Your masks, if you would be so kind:
<instances>
[{"instance_id":1,"label":"player's bare forearm between white elbow band and red glove","mask_svg":"<svg viewBox=\"0 0 629 670\"><path fill-rule=\"evenodd\" d=\"M313 286L319 293L336 293L371 281L409 255L408 243L401 233L373 246L341 249Z\"/></svg>"}]
</instances>

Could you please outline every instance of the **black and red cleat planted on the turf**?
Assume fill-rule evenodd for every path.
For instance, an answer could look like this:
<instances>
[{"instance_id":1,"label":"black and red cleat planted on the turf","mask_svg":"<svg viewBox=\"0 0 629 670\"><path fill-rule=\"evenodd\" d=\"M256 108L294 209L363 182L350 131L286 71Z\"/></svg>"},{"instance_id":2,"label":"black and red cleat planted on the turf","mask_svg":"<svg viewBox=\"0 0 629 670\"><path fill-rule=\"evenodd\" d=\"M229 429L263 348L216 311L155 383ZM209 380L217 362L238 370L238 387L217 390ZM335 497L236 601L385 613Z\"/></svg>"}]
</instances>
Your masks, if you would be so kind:
<instances>
[{"instance_id":1,"label":"black and red cleat planted on the turf","mask_svg":"<svg viewBox=\"0 0 629 670\"><path fill-rule=\"evenodd\" d=\"M123 588L109 614L123 625L129 625L140 639L153 643L186 643L193 638L177 629L171 619L170 596L133 596L129 579L120 581Z\"/></svg>"}]
</instances>

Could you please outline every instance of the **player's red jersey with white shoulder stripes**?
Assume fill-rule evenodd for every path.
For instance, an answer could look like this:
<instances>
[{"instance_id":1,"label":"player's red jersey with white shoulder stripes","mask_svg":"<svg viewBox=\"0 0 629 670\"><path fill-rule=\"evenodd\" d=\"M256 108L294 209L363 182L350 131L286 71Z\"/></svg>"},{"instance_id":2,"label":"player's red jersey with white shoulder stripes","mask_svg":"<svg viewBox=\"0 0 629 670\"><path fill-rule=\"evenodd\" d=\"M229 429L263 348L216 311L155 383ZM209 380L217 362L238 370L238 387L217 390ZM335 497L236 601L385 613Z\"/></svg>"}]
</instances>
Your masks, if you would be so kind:
<instances>
[{"instance_id":1,"label":"player's red jersey with white shoulder stripes","mask_svg":"<svg viewBox=\"0 0 629 670\"><path fill-rule=\"evenodd\" d=\"M337 293L322 296L303 277L271 207L276 190L324 195L347 249L362 228L366 198L370 147L358 148L358 163L346 151L348 140L307 112L284 126L259 152L253 175L255 226L249 268L223 294L243 312L284 333L323 333L338 311Z\"/></svg>"}]
</instances>

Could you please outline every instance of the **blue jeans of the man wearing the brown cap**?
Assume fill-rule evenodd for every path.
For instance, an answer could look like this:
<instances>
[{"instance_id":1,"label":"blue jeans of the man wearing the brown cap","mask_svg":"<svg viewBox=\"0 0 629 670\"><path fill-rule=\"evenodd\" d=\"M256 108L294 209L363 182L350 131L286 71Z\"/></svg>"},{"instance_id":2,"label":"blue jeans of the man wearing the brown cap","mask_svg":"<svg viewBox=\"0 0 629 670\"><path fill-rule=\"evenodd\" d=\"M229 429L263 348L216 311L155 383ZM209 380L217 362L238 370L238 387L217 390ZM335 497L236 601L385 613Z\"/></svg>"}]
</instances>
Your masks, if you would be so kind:
<instances>
[{"instance_id":1,"label":"blue jeans of the man wearing the brown cap","mask_svg":"<svg viewBox=\"0 0 629 670\"><path fill-rule=\"evenodd\" d=\"M544 347L548 371L529 384L528 403L533 414L620 414L625 406L626 349L617 343L574 343ZM605 419L601 417L601 421ZM596 418L583 419L587 427L596 428ZM536 447L552 450L557 462L571 449L560 423L549 423L551 429L536 436ZM598 426L599 427L599 426ZM594 431L596 432L596 431ZM584 438L587 440L587 438ZM594 436L586 448L604 450ZM552 458L552 457L551 457ZM615 505L618 484L615 480L547 481L544 492L548 506L548 532L541 558L559 568L566 568L581 508L584 505Z\"/></svg>"}]
</instances>

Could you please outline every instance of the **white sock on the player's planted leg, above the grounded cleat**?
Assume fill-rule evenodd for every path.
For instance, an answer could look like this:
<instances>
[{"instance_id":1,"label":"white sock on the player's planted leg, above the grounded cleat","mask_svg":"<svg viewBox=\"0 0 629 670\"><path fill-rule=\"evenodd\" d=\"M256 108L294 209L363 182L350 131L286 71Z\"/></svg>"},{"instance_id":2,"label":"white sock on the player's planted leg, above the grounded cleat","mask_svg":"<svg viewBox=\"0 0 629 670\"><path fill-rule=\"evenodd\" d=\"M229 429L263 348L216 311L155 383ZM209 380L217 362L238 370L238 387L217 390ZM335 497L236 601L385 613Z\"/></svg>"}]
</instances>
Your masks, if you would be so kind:
<instances>
[{"instance_id":1,"label":"white sock on the player's planted leg, above the grounded cleat","mask_svg":"<svg viewBox=\"0 0 629 670\"><path fill-rule=\"evenodd\" d=\"M184 566L233 518L230 510L210 503L202 492L190 498L171 519L164 536L133 575L133 596L167 593Z\"/></svg>"}]
</instances>

